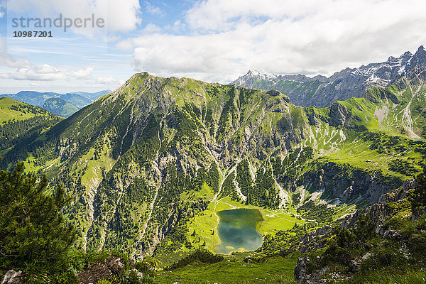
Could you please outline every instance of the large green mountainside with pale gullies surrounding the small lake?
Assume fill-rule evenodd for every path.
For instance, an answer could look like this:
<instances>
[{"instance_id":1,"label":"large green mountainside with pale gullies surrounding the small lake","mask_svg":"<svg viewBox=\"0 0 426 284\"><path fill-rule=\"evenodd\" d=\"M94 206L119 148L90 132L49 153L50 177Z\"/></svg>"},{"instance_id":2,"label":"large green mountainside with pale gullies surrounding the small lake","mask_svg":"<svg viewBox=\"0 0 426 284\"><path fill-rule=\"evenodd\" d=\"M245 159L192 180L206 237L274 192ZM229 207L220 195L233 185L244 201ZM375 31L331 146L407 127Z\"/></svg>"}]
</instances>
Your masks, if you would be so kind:
<instances>
[{"instance_id":1,"label":"large green mountainside with pale gullies surrounding the small lake","mask_svg":"<svg viewBox=\"0 0 426 284\"><path fill-rule=\"evenodd\" d=\"M83 248L168 265L214 249L221 209L259 208L262 234L275 236L334 222L418 173L422 74L324 109L276 91L136 74L2 165L24 157L65 184Z\"/></svg>"}]
</instances>

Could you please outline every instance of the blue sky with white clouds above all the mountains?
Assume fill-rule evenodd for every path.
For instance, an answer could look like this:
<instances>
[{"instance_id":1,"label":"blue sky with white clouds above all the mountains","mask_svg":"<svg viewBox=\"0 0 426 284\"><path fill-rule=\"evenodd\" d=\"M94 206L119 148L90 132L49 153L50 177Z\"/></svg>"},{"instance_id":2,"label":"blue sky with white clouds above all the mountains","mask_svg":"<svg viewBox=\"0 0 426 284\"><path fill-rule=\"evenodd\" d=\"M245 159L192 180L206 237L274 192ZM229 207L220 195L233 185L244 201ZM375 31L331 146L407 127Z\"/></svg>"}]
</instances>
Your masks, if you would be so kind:
<instances>
[{"instance_id":1,"label":"blue sky with white clouds above all the mountains","mask_svg":"<svg viewBox=\"0 0 426 284\"><path fill-rule=\"evenodd\" d=\"M425 0L0 0L0 94L116 89L136 72L330 76L415 53L425 11Z\"/></svg>"}]
</instances>

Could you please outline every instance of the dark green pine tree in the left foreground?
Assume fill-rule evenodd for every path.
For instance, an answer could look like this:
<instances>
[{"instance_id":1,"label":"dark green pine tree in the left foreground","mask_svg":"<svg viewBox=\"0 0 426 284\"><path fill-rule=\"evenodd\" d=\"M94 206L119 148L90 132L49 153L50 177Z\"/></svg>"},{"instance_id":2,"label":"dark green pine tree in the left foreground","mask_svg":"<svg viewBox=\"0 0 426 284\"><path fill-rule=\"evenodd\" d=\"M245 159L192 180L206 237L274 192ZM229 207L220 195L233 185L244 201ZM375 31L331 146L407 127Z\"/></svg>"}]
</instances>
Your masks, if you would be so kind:
<instances>
[{"instance_id":1,"label":"dark green pine tree in the left foreground","mask_svg":"<svg viewBox=\"0 0 426 284\"><path fill-rule=\"evenodd\" d=\"M0 171L0 269L26 273L58 273L67 267L67 252L76 230L62 217L64 189L48 195L48 180L23 173Z\"/></svg>"}]
</instances>

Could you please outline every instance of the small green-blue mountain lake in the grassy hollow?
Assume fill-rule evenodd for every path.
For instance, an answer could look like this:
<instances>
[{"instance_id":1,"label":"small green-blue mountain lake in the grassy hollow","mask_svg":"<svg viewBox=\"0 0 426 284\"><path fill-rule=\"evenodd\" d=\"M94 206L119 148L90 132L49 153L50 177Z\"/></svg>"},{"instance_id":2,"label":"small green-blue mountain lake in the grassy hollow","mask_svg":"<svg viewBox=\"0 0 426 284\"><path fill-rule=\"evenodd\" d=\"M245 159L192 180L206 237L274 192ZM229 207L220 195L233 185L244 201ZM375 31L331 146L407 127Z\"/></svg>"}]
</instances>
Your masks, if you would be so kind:
<instances>
[{"instance_id":1,"label":"small green-blue mountain lake in the grassy hollow","mask_svg":"<svg viewBox=\"0 0 426 284\"><path fill-rule=\"evenodd\" d=\"M227 254L231 251L254 251L262 246L262 235L257 231L263 222L259 210L231 209L219 211L217 214L220 244L214 251Z\"/></svg>"}]
</instances>

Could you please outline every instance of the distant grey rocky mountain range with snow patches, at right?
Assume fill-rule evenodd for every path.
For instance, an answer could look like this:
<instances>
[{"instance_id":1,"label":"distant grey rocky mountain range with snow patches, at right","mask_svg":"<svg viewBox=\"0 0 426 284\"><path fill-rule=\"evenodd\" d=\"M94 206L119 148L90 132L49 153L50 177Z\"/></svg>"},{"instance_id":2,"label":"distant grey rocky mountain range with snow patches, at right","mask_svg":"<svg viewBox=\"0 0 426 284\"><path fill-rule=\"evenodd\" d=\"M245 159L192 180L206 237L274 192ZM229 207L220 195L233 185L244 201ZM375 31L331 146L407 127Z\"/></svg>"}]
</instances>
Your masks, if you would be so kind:
<instances>
[{"instance_id":1,"label":"distant grey rocky mountain range with snow patches, at right","mask_svg":"<svg viewBox=\"0 0 426 284\"><path fill-rule=\"evenodd\" d=\"M362 97L371 87L389 87L408 72L426 63L426 50L420 46L399 58L389 57L385 62L346 68L330 77L317 75L275 75L249 70L231 84L253 89L277 89L290 97L290 102L302 107L328 107L337 100Z\"/></svg>"}]
</instances>

